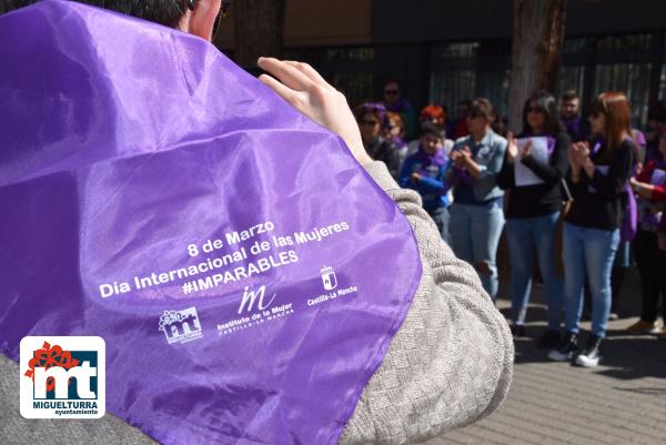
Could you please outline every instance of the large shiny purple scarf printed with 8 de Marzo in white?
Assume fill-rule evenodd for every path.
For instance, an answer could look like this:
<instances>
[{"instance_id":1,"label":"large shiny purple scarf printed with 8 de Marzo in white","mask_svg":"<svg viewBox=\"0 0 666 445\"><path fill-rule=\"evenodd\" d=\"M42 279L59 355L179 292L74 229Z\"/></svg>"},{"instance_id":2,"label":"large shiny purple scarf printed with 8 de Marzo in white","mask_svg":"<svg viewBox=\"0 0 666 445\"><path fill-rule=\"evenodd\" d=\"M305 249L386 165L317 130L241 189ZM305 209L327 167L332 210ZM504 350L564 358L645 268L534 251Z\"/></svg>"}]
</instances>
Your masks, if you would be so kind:
<instances>
[{"instance_id":1,"label":"large shiny purple scarf printed with 8 de Marzo in white","mask_svg":"<svg viewBox=\"0 0 666 445\"><path fill-rule=\"evenodd\" d=\"M102 336L107 411L164 444L335 444L421 276L342 140L210 43L77 2L0 17L0 351ZM203 336L169 344L191 307Z\"/></svg>"}]
</instances>

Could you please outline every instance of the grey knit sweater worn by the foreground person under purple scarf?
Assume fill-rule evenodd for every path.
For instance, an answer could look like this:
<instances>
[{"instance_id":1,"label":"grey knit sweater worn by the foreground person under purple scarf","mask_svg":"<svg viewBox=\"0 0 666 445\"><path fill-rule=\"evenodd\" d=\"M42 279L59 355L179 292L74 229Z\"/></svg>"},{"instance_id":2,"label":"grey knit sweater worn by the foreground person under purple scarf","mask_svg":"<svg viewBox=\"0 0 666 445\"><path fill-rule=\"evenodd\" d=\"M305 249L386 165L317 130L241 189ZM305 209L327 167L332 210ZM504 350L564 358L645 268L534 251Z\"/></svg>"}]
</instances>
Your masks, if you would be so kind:
<instances>
[{"instance_id":1,"label":"grey knit sweater worn by the foreground person under purple scarf","mask_svg":"<svg viewBox=\"0 0 666 445\"><path fill-rule=\"evenodd\" d=\"M418 194L400 189L381 162L366 170L410 221L423 275L407 316L363 391L340 444L422 442L497 408L512 380L513 341L475 271L442 241ZM109 414L99 421L22 418L18 365L0 354L0 443L42 442L154 444Z\"/></svg>"}]
</instances>

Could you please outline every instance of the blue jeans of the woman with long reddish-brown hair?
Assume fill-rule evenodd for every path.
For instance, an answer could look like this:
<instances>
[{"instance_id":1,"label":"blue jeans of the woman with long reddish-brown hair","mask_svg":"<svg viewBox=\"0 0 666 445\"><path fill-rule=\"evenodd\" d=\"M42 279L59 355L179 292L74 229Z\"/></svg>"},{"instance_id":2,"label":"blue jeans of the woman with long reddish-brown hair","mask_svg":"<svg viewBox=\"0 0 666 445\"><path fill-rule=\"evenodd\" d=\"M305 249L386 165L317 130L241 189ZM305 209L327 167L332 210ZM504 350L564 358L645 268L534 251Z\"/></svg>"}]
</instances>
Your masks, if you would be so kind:
<instances>
[{"instance_id":1,"label":"blue jeans of the woman with long reddish-brown hair","mask_svg":"<svg viewBox=\"0 0 666 445\"><path fill-rule=\"evenodd\" d=\"M567 332L579 331L583 283L587 274L592 294L592 333L606 336L610 314L610 271L619 244L619 230L564 224L564 312Z\"/></svg>"}]
</instances>

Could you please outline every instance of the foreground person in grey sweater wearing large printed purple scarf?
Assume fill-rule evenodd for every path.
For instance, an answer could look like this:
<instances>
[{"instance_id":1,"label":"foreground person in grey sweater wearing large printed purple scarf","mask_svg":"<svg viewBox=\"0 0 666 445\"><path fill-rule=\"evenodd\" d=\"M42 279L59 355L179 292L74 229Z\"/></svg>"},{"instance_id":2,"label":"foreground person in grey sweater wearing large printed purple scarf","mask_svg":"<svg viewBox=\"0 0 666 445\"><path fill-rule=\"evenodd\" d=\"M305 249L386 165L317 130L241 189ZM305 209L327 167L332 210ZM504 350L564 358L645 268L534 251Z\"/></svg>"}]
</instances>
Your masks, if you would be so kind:
<instances>
[{"instance_id":1,"label":"foreground person in grey sweater wearing large printed purple scarf","mask_svg":"<svg viewBox=\"0 0 666 445\"><path fill-rule=\"evenodd\" d=\"M314 69L234 65L220 0L27 3L0 2L0 436L403 444L497 408L506 322ZM110 414L19 416L40 335L104 338Z\"/></svg>"}]
</instances>

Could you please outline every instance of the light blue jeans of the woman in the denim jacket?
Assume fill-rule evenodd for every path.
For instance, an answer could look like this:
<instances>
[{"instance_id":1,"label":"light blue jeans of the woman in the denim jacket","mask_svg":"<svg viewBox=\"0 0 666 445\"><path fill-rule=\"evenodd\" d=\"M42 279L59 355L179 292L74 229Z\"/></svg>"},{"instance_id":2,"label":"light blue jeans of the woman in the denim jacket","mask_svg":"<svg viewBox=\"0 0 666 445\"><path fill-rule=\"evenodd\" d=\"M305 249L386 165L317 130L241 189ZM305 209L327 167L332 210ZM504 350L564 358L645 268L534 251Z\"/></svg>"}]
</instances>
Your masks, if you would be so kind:
<instances>
[{"instance_id":1,"label":"light blue jeans of the woman in the denim jacket","mask_svg":"<svg viewBox=\"0 0 666 445\"><path fill-rule=\"evenodd\" d=\"M456 204L450 208L451 246L456 256L472 264L491 299L497 297L497 244L504 213L497 202L487 205Z\"/></svg>"}]
</instances>

